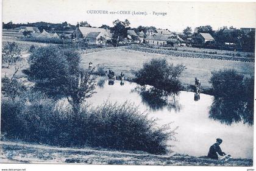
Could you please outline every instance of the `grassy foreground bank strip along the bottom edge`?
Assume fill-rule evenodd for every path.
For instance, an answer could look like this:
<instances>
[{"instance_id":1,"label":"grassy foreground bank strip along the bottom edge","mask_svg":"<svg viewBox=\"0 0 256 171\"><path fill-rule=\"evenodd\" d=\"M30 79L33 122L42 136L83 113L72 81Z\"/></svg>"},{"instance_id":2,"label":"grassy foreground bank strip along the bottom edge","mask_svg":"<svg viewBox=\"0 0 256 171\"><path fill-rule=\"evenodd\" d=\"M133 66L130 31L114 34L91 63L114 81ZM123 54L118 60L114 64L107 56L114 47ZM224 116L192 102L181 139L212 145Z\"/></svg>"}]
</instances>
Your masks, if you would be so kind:
<instances>
[{"instance_id":1,"label":"grassy foreground bank strip along the bottom edge","mask_svg":"<svg viewBox=\"0 0 256 171\"><path fill-rule=\"evenodd\" d=\"M160 166L252 166L252 159L214 160L180 154L151 155L146 152L103 148L60 148L20 142L0 142L1 163L84 163Z\"/></svg>"}]
</instances>

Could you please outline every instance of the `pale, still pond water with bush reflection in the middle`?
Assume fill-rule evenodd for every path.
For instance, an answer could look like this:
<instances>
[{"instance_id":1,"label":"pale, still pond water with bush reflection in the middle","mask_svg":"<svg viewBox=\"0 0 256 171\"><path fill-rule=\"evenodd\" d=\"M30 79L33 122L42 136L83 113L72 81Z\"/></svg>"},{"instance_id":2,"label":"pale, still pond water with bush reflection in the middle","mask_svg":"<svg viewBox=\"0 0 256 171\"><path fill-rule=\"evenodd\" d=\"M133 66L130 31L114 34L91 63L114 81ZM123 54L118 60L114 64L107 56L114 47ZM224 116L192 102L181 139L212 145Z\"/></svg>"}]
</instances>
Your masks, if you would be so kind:
<instances>
[{"instance_id":1,"label":"pale, still pond water with bush reflection in the middle","mask_svg":"<svg viewBox=\"0 0 256 171\"><path fill-rule=\"evenodd\" d=\"M144 98L144 94L135 91L136 83L120 83L116 80L113 85L109 85L107 80L99 80L97 93L88 99L88 102L97 106L104 101L123 103L128 100L139 105L141 112L148 111L149 117L158 118L158 125L173 122L172 128L179 127L176 131L177 141L169 142L174 145L172 150L175 153L205 156L210 145L216 142L216 138L221 138L222 151L233 158L253 157L253 125L243 122L227 125L210 119L209 110L213 96L201 93L200 100L195 101L194 92L181 91L177 96L173 96L174 98L169 97L169 103L156 97L155 102L160 103L154 105L154 100L147 101L150 98Z\"/></svg>"}]
</instances>

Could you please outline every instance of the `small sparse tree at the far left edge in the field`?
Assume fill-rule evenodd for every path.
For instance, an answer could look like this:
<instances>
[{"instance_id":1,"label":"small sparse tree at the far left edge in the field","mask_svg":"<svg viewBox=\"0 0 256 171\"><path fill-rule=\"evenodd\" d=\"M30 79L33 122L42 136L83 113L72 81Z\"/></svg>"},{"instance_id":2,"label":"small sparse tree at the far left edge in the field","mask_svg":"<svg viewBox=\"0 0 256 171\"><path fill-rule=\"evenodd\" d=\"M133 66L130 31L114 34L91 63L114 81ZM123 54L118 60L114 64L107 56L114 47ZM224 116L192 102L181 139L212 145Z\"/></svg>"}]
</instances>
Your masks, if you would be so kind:
<instances>
[{"instance_id":1,"label":"small sparse tree at the far left edge in the field","mask_svg":"<svg viewBox=\"0 0 256 171\"><path fill-rule=\"evenodd\" d=\"M7 42L4 44L4 47L2 48L2 64L7 64L7 68L9 68L10 65L21 60L21 50L18 47L18 44L15 42Z\"/></svg>"}]
</instances>

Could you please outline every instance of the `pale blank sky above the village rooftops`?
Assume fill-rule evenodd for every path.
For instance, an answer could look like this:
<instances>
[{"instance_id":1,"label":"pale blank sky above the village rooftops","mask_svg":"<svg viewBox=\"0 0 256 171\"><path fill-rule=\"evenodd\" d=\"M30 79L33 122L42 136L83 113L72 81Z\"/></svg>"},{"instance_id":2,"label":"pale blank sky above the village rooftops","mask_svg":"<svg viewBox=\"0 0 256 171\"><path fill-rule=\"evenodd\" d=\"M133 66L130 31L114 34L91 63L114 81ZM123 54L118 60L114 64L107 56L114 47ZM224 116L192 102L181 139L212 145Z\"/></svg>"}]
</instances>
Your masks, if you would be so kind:
<instances>
[{"instance_id":1,"label":"pale blank sky above the village rooftops","mask_svg":"<svg viewBox=\"0 0 256 171\"><path fill-rule=\"evenodd\" d=\"M210 25L256 27L256 2L175 2L175 1L113 1L113 0L3 0L2 21L8 23L76 24L87 21L91 26L113 26L115 19L128 19L130 27L155 26L181 32ZM88 10L106 10L108 14L91 14ZM120 11L146 12L147 15L120 14ZM110 14L119 12L119 14ZM154 15L167 13L167 15Z\"/></svg>"}]
</instances>

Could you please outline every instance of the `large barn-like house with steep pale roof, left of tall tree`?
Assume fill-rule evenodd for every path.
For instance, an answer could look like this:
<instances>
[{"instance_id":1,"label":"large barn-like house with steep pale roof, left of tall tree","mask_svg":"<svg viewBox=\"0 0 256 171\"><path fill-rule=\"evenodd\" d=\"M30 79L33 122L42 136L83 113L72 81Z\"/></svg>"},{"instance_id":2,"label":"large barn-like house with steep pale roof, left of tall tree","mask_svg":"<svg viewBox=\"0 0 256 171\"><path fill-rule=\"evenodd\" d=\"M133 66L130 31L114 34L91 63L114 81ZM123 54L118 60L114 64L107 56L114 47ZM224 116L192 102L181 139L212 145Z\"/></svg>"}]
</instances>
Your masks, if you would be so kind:
<instances>
[{"instance_id":1,"label":"large barn-like house with steep pale roof, left of tall tree","mask_svg":"<svg viewBox=\"0 0 256 171\"><path fill-rule=\"evenodd\" d=\"M76 39L82 38L89 44L104 44L103 40L110 40L112 34L110 33L110 30L107 29L96 27L77 27L72 36ZM101 41L99 41L99 39L101 39Z\"/></svg>"}]
</instances>

